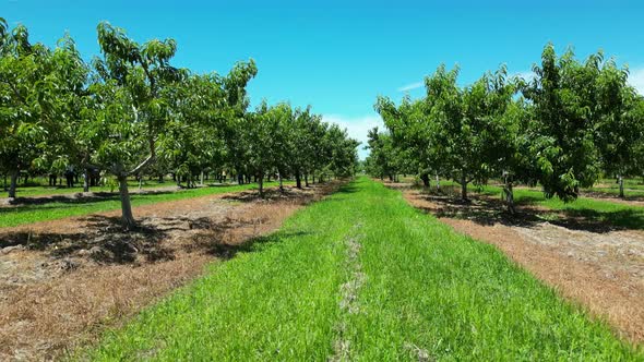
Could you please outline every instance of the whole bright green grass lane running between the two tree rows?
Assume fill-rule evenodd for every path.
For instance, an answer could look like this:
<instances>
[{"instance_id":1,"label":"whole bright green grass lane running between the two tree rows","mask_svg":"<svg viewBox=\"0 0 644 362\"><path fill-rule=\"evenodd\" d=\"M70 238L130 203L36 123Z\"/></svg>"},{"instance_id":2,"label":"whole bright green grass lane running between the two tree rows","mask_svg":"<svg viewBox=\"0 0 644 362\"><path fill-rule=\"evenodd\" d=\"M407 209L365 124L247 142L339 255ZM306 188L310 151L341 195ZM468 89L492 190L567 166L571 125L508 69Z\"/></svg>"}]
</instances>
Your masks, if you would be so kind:
<instances>
[{"instance_id":1,"label":"whole bright green grass lane running between the two tree rows","mask_svg":"<svg viewBox=\"0 0 644 362\"><path fill-rule=\"evenodd\" d=\"M347 241L361 244L353 264ZM341 286L356 272L350 313ZM355 361L644 358L493 246L366 178L73 358L326 361L338 340Z\"/></svg>"}]
</instances>

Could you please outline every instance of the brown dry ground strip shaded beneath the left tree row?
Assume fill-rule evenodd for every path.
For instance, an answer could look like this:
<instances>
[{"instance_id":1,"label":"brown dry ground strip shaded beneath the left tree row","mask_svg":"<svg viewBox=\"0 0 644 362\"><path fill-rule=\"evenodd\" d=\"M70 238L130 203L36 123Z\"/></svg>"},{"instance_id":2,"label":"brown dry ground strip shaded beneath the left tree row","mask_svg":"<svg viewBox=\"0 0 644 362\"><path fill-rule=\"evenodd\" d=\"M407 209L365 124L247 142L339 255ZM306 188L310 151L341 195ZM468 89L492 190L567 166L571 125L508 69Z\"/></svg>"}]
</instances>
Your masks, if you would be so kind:
<instances>
[{"instance_id":1,"label":"brown dry ground strip shaded beneath the left tree row","mask_svg":"<svg viewBox=\"0 0 644 362\"><path fill-rule=\"evenodd\" d=\"M277 229L339 182L239 192L0 229L0 360L51 360Z\"/></svg>"}]
</instances>

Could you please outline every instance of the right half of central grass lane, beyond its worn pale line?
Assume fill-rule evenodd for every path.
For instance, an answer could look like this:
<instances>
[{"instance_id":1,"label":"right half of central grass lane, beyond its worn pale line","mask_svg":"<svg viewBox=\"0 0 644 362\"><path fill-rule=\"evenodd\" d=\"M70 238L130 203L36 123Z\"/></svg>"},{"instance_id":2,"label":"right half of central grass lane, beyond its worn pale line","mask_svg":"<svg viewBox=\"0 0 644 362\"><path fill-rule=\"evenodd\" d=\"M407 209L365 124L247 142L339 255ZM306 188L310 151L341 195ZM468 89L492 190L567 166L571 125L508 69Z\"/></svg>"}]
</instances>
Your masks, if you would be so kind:
<instances>
[{"instance_id":1,"label":"right half of central grass lane, beyond its worn pale line","mask_svg":"<svg viewBox=\"0 0 644 362\"><path fill-rule=\"evenodd\" d=\"M493 246L413 209L397 191L360 189L367 281L350 319L351 360L643 358Z\"/></svg>"}]
</instances>

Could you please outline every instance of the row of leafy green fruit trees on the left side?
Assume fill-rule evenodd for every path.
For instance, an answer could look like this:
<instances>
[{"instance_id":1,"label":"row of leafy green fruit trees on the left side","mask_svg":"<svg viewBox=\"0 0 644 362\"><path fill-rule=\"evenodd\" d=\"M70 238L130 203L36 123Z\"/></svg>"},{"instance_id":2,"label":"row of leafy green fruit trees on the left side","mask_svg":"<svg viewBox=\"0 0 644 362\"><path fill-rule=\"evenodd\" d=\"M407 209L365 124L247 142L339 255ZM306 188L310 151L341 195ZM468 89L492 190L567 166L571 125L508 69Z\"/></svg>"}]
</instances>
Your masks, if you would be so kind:
<instances>
[{"instance_id":1,"label":"row of leafy green fruit trees on the left side","mask_svg":"<svg viewBox=\"0 0 644 362\"><path fill-rule=\"evenodd\" d=\"M21 172L102 170L119 182L123 222L135 225L128 177L201 172L239 179L319 179L354 172L358 143L345 130L288 104L249 110L255 63L222 76L171 65L172 39L139 44L108 23L102 56L86 62L70 36L32 44L24 26L0 19L0 173L15 197Z\"/></svg>"}]
</instances>

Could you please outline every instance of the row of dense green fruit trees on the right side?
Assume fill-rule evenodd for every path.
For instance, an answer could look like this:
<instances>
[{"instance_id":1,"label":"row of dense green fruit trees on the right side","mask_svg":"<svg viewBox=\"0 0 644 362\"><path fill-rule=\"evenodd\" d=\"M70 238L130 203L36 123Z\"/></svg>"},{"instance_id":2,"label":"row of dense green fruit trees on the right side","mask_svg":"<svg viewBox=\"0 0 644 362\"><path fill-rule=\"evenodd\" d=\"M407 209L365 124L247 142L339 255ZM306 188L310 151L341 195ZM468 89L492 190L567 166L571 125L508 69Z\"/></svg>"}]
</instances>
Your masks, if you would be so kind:
<instances>
[{"instance_id":1,"label":"row of dense green fruit trees on the right side","mask_svg":"<svg viewBox=\"0 0 644 362\"><path fill-rule=\"evenodd\" d=\"M504 181L511 210L514 184L540 184L546 196L575 200L600 176L644 171L644 98L629 85L628 68L601 52L585 61L558 57L547 45L534 76L509 76L505 67L474 84L457 84L458 69L441 65L426 77L426 96L399 105L380 97L385 132L369 134L368 172L449 178L462 186Z\"/></svg>"}]
</instances>

